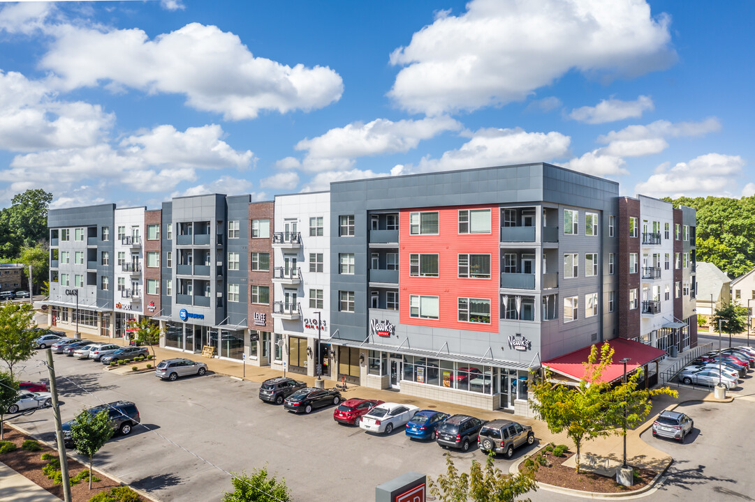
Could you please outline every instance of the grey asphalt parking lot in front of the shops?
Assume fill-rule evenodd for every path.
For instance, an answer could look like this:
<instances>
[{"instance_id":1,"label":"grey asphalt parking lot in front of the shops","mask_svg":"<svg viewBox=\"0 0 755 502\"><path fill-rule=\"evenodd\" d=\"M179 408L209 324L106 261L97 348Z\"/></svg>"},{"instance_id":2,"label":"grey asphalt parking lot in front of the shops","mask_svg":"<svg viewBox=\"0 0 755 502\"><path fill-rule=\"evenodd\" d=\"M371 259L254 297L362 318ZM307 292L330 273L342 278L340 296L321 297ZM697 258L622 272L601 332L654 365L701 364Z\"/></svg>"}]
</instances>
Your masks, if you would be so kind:
<instances>
[{"instance_id":1,"label":"grey asphalt parking lot in front of the shops","mask_svg":"<svg viewBox=\"0 0 755 502\"><path fill-rule=\"evenodd\" d=\"M43 357L40 351L24 363L20 377L46 381ZM143 424L154 432L135 427L130 436L116 436L94 463L160 500L220 500L231 483L217 467L239 472L267 463L285 477L294 500L372 500L376 485L402 473L445 472L445 450L434 442L411 441L403 428L375 436L341 426L333 421L332 406L294 415L257 399L260 384L254 382L211 373L160 381L153 373L116 375L91 360L54 358L63 421L102 401L137 404ZM53 439L50 409L12 421ZM536 445L520 448L512 461L498 459L498 467L508 470ZM450 455L461 470L468 470L472 458L484 461L476 446Z\"/></svg>"}]
</instances>

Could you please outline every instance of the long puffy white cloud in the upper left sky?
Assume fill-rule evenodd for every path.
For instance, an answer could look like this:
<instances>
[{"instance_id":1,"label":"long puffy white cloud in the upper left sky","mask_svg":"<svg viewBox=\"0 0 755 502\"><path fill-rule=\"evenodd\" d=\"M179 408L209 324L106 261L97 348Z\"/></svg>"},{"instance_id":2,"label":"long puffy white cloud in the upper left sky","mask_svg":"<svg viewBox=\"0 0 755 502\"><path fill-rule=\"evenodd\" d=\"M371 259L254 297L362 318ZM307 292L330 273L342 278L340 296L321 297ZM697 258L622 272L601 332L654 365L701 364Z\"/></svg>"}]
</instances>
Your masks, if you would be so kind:
<instances>
[{"instance_id":1,"label":"long puffy white cloud in the upper left sky","mask_svg":"<svg viewBox=\"0 0 755 502\"><path fill-rule=\"evenodd\" d=\"M237 35L191 23L149 40L140 29L100 31L64 24L40 66L57 74L63 90L131 87L179 93L193 108L227 120L262 111L309 111L341 98L341 76L328 67L283 65L254 57Z\"/></svg>"}]
</instances>

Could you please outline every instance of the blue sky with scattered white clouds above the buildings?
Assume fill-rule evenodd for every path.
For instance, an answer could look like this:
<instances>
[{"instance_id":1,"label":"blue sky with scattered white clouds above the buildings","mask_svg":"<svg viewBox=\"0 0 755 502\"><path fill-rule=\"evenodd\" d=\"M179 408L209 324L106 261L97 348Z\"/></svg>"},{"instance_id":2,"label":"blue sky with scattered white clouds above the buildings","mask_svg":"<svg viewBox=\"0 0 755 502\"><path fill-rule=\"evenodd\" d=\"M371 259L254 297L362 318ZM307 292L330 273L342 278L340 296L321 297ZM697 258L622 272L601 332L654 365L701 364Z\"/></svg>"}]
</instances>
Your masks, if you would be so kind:
<instances>
[{"instance_id":1,"label":"blue sky with scattered white clouds above the buildings","mask_svg":"<svg viewBox=\"0 0 755 502\"><path fill-rule=\"evenodd\" d=\"M0 206L549 162L755 194L755 2L2 2Z\"/></svg>"}]
</instances>

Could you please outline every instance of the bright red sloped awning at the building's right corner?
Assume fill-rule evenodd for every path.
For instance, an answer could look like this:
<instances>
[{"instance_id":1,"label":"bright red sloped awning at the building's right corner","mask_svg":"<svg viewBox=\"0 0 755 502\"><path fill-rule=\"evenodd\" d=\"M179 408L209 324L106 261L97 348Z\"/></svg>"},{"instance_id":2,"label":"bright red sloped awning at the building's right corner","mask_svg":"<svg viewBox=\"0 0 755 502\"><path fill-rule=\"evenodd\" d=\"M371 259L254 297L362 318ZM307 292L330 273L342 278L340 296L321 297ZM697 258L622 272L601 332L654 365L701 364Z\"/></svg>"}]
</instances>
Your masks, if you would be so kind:
<instances>
[{"instance_id":1,"label":"bright red sloped awning at the building's right corner","mask_svg":"<svg viewBox=\"0 0 755 502\"><path fill-rule=\"evenodd\" d=\"M627 373L645 366L647 363L657 360L659 357L666 355L665 350L661 350L650 345L640 343L639 341L626 340L624 338L614 338L607 342L614 350L613 362L603 372L602 381L615 381L624 376L624 363L619 363L624 357L629 357L627 363ZM598 357L600 357L600 347L598 344ZM590 357L590 346L575 350L561 357L544 361L543 366L575 380L584 378L584 364Z\"/></svg>"}]
</instances>

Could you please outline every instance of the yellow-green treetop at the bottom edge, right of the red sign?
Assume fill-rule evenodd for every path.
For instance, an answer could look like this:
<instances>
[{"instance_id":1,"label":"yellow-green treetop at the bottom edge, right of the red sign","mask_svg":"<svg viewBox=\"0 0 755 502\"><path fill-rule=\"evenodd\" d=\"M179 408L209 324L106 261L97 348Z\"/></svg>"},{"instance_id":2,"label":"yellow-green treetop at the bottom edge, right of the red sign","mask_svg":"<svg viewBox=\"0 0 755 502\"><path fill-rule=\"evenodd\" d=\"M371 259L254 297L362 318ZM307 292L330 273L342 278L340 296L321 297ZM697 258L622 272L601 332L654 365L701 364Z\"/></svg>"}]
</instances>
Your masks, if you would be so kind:
<instances>
[{"instance_id":1,"label":"yellow-green treetop at the bottom edge, right of the red sign","mask_svg":"<svg viewBox=\"0 0 755 502\"><path fill-rule=\"evenodd\" d=\"M435 481L429 478L427 482L430 495L441 502L514 502L516 497L537 491L532 469L515 475L504 474L495 467L492 455L488 455L484 469L473 460L469 473L459 473L451 455L446 455L445 465L445 474L440 474Z\"/></svg>"}]
</instances>

